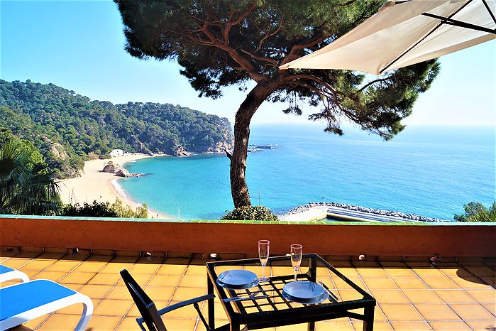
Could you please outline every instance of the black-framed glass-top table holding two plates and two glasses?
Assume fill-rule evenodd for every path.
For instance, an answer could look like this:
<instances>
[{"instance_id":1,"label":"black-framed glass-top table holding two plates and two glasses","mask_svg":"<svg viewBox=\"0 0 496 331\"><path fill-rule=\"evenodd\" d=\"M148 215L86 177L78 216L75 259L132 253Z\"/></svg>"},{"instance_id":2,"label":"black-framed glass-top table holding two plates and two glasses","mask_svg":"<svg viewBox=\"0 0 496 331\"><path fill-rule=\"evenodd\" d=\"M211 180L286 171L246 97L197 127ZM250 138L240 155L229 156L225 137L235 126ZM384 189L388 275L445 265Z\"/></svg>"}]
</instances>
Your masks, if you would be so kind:
<instances>
[{"instance_id":1,"label":"black-framed glass-top table holding two plates and two glasses","mask_svg":"<svg viewBox=\"0 0 496 331\"><path fill-rule=\"evenodd\" d=\"M246 325L243 330L255 330L265 327L294 325L308 323L308 330L315 329L315 322L331 320L334 318L356 318L363 320L363 330L373 330L375 299L350 281L346 276L331 266L317 254L304 254L302 266L297 276L298 280L319 281L329 293L329 299L317 304L303 304L287 300L282 296L282 288L286 283L294 280L290 256L275 256L269 258L268 266L287 266L281 268L289 271L270 277L265 283L259 283L254 288L246 290L230 290L219 286L218 273L229 269L245 268L255 270L261 268L259 259L243 259L233 261L207 262L207 291L214 294L214 289L219 295L232 331L241 330L241 325ZM306 273L302 273L307 269ZM319 274L317 274L319 273ZM347 298L341 298L331 283L340 282L347 286ZM353 295L349 295L353 294ZM230 300L242 298L243 300ZM208 301L209 326L215 327L214 299ZM356 313L363 309L362 313Z\"/></svg>"}]
</instances>

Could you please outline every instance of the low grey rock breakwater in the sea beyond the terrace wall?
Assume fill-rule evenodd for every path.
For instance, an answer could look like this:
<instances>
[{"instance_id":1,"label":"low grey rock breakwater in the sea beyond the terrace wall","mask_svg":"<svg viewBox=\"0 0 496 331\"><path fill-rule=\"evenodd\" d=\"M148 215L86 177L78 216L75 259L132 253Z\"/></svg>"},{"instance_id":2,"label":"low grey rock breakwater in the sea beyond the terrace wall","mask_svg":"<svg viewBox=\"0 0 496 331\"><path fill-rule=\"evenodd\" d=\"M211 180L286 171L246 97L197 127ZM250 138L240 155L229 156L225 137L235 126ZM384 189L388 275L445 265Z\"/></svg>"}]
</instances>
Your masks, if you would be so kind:
<instances>
[{"instance_id":1,"label":"low grey rock breakwater in the sea beyond the terrace wall","mask_svg":"<svg viewBox=\"0 0 496 331\"><path fill-rule=\"evenodd\" d=\"M393 212L391 210L378 210L374 208L362 207L362 206L353 206L347 205L346 203L339 202L309 202L307 205L301 205L296 208L293 208L282 217L287 217L288 215L299 214L300 212L306 212L307 210L311 210L314 207L339 207L346 210L353 210L356 212L367 212L373 215L382 215L388 217L399 217L402 219L407 219L410 221L419 221L419 222L450 222L446 219L439 219L433 217L425 217L416 214L405 214L404 212Z\"/></svg>"}]
</instances>

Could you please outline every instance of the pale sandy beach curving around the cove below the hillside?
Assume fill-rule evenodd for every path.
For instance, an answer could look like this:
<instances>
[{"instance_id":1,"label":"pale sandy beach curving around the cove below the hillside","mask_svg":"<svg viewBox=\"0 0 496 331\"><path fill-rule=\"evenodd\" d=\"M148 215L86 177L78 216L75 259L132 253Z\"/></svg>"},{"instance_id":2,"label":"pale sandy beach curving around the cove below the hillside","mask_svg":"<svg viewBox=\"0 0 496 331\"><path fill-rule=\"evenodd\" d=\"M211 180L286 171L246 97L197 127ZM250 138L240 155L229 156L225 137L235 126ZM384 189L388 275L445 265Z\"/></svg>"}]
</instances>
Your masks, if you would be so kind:
<instances>
[{"instance_id":1,"label":"pale sandy beach curving around the cove below the hillside","mask_svg":"<svg viewBox=\"0 0 496 331\"><path fill-rule=\"evenodd\" d=\"M106 163L112 161L114 163L123 163L139 160L141 158L150 158L151 156L143 153L133 153L126 156L116 156L106 160L91 160L84 162L82 174L76 178L60 180L60 198L64 203L79 203L83 202L115 202L119 198L123 203L133 208L139 207L140 204L120 189L117 177L114 173L104 173L101 169ZM153 210L148 210L148 217L153 218L171 218L167 215L160 214Z\"/></svg>"}]
</instances>

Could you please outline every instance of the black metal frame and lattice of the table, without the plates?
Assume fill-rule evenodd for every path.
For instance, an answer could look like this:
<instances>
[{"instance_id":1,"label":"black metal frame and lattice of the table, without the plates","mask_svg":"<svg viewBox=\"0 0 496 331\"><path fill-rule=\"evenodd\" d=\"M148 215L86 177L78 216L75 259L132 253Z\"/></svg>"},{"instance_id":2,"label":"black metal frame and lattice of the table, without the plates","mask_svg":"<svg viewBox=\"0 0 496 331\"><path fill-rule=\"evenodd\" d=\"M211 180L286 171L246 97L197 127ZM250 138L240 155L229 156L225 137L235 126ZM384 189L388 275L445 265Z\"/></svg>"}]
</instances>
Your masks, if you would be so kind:
<instances>
[{"instance_id":1,"label":"black metal frame and lattice of the table, without the plates","mask_svg":"<svg viewBox=\"0 0 496 331\"><path fill-rule=\"evenodd\" d=\"M290 261L290 256L275 256L269 258L268 265L277 261ZM349 301L341 301L338 302L334 300L334 298L330 297L329 301L324 303L319 303L317 305L304 305L303 307L292 308L290 305L290 301L282 298L280 290L273 286L272 284L277 281L282 281L286 283L286 281L292 281L294 279L294 275L288 276L276 276L271 277L269 284L274 287L273 290L276 291L277 295L285 301L285 304L288 308L278 309L275 302L272 302L270 298L264 298L263 300L267 300L267 305L271 305L274 310L271 311L262 311L260 310L260 306L258 305L258 300L250 300L253 302L254 306L258 308L258 312L256 313L247 313L245 307L243 307L243 302L241 301L231 301L224 302L225 299L229 298L226 291L233 295L236 295L235 291L226 290L222 288L216 283L217 274L215 268L217 266L244 266L244 265L257 265L260 264L260 260L258 259L243 259L243 260L233 260L233 261L215 261L215 262L207 262L206 271L207 271L207 292L209 294L214 294L214 288L216 288L216 292L219 295L222 305L224 306L224 310L226 310L226 315L229 319L229 324L231 325L231 331L240 330L241 325L246 325L243 330L255 330L261 329L264 327L277 327L282 325L294 325L299 323L308 323L308 330L315 330L315 322L321 320L331 320L334 318L356 318L358 320L363 320L363 330L372 331L374 325L374 309L375 309L375 299L363 291L360 287L358 287L355 283L350 281L346 276L336 270L331 264L327 263L324 259L322 259L317 254L304 254L302 257L302 261L304 259L308 259L309 261L309 270L307 273L299 274L298 278L306 278L309 281L316 281L316 271L317 271L317 261L319 264L322 264L326 268L329 269L332 273L336 274L339 278L341 278L344 282L346 282L351 288L356 290L360 295L363 295L362 299L358 300L349 300ZM259 285L261 290L261 287ZM250 290L246 290L249 294ZM234 310L236 305L237 311ZM208 300L208 308L209 308L209 326L213 330L215 327L215 311L214 311L214 299ZM363 315L358 313L353 313L350 310L364 308Z\"/></svg>"}]
</instances>

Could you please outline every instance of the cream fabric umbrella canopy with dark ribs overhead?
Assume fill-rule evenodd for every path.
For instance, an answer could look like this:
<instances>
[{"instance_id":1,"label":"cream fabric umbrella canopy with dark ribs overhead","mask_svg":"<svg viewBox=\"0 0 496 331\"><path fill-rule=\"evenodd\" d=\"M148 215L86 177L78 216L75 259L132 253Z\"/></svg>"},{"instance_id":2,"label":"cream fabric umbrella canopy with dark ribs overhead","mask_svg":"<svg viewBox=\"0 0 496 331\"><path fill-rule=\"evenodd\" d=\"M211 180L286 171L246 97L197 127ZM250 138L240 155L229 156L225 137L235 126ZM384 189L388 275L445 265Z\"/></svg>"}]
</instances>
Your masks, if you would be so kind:
<instances>
[{"instance_id":1,"label":"cream fabric umbrella canopy with dark ribs overhead","mask_svg":"<svg viewBox=\"0 0 496 331\"><path fill-rule=\"evenodd\" d=\"M280 69L380 75L495 38L495 0L387 1L346 35Z\"/></svg>"}]
</instances>

